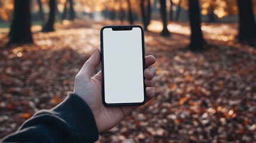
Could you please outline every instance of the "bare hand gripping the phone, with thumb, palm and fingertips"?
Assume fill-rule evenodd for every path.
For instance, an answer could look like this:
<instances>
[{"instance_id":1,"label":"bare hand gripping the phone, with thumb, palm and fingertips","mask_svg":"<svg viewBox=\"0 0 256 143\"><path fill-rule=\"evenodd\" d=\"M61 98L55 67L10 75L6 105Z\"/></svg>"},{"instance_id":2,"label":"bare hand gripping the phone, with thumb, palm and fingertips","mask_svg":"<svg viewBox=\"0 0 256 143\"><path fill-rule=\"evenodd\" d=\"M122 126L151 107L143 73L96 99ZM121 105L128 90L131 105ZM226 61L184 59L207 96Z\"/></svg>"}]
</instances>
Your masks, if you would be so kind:
<instances>
[{"instance_id":1,"label":"bare hand gripping the phone, with thumb, palm and fingertips","mask_svg":"<svg viewBox=\"0 0 256 143\"><path fill-rule=\"evenodd\" d=\"M156 59L153 55L145 58L147 69L144 70L147 101L152 99L155 91L150 88L155 85L153 77L156 70L152 66ZM96 121L98 132L104 132L116 126L125 116L138 106L105 107L101 99L101 71L95 76L93 73L100 64L100 51L95 48L91 57L85 62L76 75L74 93L81 97L91 108ZM93 77L92 77L93 76Z\"/></svg>"}]
</instances>

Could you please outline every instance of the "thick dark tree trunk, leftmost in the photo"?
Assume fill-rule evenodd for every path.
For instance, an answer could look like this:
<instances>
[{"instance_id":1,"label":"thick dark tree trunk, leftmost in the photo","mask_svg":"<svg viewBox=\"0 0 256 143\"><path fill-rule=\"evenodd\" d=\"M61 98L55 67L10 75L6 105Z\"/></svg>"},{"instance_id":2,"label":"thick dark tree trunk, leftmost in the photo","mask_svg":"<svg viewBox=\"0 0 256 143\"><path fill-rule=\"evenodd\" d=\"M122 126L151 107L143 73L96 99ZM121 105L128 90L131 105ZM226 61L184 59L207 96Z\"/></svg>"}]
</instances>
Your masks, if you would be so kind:
<instances>
[{"instance_id":1,"label":"thick dark tree trunk, leftmost in the photo","mask_svg":"<svg viewBox=\"0 0 256 143\"><path fill-rule=\"evenodd\" d=\"M30 30L30 0L14 0L14 16L11 23L8 45L13 43L33 43Z\"/></svg>"}]
</instances>

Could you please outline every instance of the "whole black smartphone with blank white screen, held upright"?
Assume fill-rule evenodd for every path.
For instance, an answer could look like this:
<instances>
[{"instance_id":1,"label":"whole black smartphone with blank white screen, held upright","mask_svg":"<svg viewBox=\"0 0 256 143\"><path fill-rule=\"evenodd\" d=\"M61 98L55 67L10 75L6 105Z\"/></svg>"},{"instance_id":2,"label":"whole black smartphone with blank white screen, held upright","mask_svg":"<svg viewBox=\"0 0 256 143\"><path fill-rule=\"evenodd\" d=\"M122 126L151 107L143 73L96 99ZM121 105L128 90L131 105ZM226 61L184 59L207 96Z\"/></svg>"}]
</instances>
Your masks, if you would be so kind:
<instances>
[{"instance_id":1,"label":"whole black smartphone with blank white screen, held upright","mask_svg":"<svg viewBox=\"0 0 256 143\"><path fill-rule=\"evenodd\" d=\"M141 26L104 26L101 39L102 101L142 105L146 101L144 30Z\"/></svg>"}]
</instances>

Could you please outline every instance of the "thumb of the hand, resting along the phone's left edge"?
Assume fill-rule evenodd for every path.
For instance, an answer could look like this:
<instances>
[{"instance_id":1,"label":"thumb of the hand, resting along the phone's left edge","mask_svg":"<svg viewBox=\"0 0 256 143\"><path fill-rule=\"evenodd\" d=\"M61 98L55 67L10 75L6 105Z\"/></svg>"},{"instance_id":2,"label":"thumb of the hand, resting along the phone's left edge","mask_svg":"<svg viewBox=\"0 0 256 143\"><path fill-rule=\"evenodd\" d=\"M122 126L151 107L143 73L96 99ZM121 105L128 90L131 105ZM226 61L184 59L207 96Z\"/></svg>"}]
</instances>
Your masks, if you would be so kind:
<instances>
[{"instance_id":1,"label":"thumb of the hand, resting along the phone's left edge","mask_svg":"<svg viewBox=\"0 0 256 143\"><path fill-rule=\"evenodd\" d=\"M84 66L79 72L81 72L81 74L84 75L85 78L91 79L92 74L94 74L94 71L97 68L98 64L100 64L100 51L95 48L93 50L93 54L85 62Z\"/></svg>"}]
</instances>

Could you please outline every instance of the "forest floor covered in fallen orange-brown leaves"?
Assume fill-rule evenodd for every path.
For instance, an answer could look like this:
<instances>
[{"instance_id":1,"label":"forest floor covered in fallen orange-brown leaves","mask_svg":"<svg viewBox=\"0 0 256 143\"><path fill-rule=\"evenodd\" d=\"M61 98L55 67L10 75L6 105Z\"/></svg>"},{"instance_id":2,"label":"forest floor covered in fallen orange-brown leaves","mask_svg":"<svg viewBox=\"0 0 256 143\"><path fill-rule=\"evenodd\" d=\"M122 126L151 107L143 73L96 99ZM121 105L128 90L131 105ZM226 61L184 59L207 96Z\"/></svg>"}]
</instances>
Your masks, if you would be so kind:
<instances>
[{"instance_id":1,"label":"forest floor covered in fallen orange-brown leaves","mask_svg":"<svg viewBox=\"0 0 256 143\"><path fill-rule=\"evenodd\" d=\"M0 33L0 138L73 91L104 24L113 23L66 21L50 33L33 26L34 44L22 46L5 46ZM237 24L203 24L202 53L187 48L189 23L168 28L162 37L152 21L145 33L146 54L157 59L155 97L98 142L256 142L256 48L236 42Z\"/></svg>"}]
</instances>

